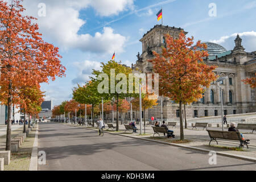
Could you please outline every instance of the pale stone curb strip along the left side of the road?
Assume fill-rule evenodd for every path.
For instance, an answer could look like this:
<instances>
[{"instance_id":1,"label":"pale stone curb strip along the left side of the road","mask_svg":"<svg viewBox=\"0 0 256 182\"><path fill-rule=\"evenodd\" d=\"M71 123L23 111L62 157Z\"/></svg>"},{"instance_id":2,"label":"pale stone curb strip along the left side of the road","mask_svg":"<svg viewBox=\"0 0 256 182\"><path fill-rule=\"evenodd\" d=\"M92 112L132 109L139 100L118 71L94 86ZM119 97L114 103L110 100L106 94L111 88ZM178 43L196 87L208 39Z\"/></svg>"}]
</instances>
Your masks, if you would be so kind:
<instances>
[{"instance_id":1,"label":"pale stone curb strip along the left side of the road","mask_svg":"<svg viewBox=\"0 0 256 182\"><path fill-rule=\"evenodd\" d=\"M38 128L39 125L36 128L35 140L30 158L30 167L28 168L28 171L38 171Z\"/></svg>"}]
</instances>

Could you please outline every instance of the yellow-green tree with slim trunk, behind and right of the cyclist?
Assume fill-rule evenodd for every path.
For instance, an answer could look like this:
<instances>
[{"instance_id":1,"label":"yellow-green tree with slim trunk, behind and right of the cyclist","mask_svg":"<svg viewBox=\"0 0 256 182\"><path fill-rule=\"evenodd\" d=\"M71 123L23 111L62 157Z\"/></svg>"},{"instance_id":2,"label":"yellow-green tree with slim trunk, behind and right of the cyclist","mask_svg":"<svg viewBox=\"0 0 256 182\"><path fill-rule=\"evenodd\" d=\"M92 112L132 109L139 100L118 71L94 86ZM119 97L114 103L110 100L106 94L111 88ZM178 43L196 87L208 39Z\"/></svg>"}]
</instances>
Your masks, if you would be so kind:
<instances>
[{"instance_id":1,"label":"yellow-green tree with slim trunk, behind and right of the cyclist","mask_svg":"<svg viewBox=\"0 0 256 182\"><path fill-rule=\"evenodd\" d=\"M119 121L118 121L118 107L119 100L124 99L125 97L130 97L129 94L129 74L132 73L131 68L122 65L121 62L116 62L114 60L109 61L108 63L101 63L102 71L93 70L92 80L97 82L97 88L104 90L100 93L100 96L104 97L105 100L112 100L115 98L117 102L117 131L119 130ZM103 77L102 77L103 76ZM102 81L102 82L101 82ZM104 83L104 84L102 84ZM98 90L96 90L98 93Z\"/></svg>"}]
</instances>

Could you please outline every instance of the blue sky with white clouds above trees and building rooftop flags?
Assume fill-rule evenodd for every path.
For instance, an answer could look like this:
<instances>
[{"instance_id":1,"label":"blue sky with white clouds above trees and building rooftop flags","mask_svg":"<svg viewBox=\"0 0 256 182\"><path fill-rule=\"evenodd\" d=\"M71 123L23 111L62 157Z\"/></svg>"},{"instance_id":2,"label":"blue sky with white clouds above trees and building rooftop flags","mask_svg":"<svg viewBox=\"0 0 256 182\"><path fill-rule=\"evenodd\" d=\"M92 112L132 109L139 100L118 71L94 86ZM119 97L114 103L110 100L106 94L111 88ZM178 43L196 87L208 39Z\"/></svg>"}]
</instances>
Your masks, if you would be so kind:
<instances>
[{"instance_id":1,"label":"blue sky with white clouds above trees and building rooftop flags","mask_svg":"<svg viewBox=\"0 0 256 182\"><path fill-rule=\"evenodd\" d=\"M38 18L43 38L60 48L66 77L42 84L53 105L72 98L76 82L88 80L92 68L111 59L131 65L142 52L139 39L160 24L156 14L163 6L164 25L184 28L195 40L219 43L233 49L239 33L246 51L256 51L256 1L249 0L24 0L28 15ZM39 3L46 16L39 16ZM208 7L216 4L217 16Z\"/></svg>"}]
</instances>

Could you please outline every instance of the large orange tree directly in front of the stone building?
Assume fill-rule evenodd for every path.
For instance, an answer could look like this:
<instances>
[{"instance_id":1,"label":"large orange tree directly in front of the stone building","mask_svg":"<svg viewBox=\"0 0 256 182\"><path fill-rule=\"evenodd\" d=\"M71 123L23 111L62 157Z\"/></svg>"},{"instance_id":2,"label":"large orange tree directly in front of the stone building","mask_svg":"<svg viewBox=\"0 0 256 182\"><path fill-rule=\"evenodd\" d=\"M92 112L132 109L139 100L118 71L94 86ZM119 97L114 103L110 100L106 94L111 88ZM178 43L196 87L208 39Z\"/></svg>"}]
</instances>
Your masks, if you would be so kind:
<instances>
[{"instance_id":1,"label":"large orange tree directly in front of the stone building","mask_svg":"<svg viewBox=\"0 0 256 182\"><path fill-rule=\"evenodd\" d=\"M155 59L150 60L154 72L159 74L159 93L179 103L180 109L180 140L184 140L182 104L191 97L201 98L203 87L209 87L216 80L213 70L215 66L204 63L207 57L207 46L200 41L193 46L193 37L186 38L184 32L174 39L166 35L166 47L162 53L154 52ZM198 49L197 49L198 48Z\"/></svg>"}]
</instances>

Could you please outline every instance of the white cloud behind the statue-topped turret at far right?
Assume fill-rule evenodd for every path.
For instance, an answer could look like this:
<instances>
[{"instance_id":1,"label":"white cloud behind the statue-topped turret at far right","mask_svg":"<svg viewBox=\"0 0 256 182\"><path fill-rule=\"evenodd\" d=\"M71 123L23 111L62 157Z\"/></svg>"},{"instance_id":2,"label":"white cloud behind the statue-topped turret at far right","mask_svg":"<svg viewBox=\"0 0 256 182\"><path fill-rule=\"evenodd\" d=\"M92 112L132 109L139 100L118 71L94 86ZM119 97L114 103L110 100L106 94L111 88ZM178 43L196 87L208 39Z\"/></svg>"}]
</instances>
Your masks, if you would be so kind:
<instances>
[{"instance_id":1,"label":"white cloud behind the statue-topped turret at far right","mask_svg":"<svg viewBox=\"0 0 256 182\"><path fill-rule=\"evenodd\" d=\"M222 36L218 40L210 40L210 42L221 44L228 50L232 50L235 46L234 40L239 34L240 38L242 39L242 46L245 48L247 52L256 51L256 32L241 32L241 33L234 33L229 36Z\"/></svg>"}]
</instances>

